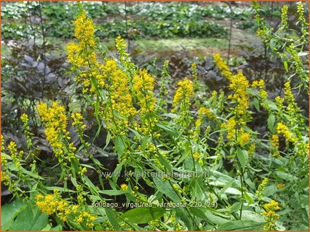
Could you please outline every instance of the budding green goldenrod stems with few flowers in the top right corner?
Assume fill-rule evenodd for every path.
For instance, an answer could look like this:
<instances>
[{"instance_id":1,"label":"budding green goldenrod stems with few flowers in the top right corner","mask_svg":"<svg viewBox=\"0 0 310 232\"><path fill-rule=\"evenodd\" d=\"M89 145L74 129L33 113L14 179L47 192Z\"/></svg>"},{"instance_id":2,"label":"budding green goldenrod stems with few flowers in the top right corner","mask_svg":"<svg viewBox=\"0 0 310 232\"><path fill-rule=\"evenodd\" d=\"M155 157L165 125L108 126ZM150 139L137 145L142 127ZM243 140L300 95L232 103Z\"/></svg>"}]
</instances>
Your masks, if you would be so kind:
<instances>
[{"instance_id":1,"label":"budding green goldenrod stems with few flowers in the top right corner","mask_svg":"<svg viewBox=\"0 0 310 232\"><path fill-rule=\"evenodd\" d=\"M278 30L273 28L262 18L264 12L258 3L254 4L257 34L268 47L268 51L275 58L282 61L285 68L285 79L300 79L298 88L307 91L309 86L309 58L307 45L309 43L309 23L304 16L304 5L298 3L293 8L284 5L281 10L281 22ZM296 23L290 23L289 17Z\"/></svg>"}]
</instances>

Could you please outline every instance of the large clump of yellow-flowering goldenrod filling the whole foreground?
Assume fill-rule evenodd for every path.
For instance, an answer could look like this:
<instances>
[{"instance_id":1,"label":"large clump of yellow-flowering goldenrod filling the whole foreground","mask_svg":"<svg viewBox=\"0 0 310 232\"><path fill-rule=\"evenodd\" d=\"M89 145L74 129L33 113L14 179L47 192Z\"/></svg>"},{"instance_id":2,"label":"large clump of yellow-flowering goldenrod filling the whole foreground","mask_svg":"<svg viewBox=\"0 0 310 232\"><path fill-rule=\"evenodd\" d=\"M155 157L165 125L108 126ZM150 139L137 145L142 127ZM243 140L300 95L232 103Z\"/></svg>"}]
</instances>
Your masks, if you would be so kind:
<instances>
[{"instance_id":1,"label":"large clump of yellow-flowering goldenrod filling the whole foreground","mask_svg":"<svg viewBox=\"0 0 310 232\"><path fill-rule=\"evenodd\" d=\"M28 148L1 137L1 181L13 196L2 207L3 230L308 229L309 130L290 82L273 99L264 80L249 82L216 54L226 91L205 92L194 63L170 106L168 61L155 93L156 78L132 62L121 36L117 58L101 51L80 4L74 37L70 74L92 111L68 114L60 100L37 104L53 165L32 142L25 113ZM261 113L265 130L258 131L251 122ZM85 135L90 114L92 138ZM107 152L116 167L102 161Z\"/></svg>"}]
</instances>

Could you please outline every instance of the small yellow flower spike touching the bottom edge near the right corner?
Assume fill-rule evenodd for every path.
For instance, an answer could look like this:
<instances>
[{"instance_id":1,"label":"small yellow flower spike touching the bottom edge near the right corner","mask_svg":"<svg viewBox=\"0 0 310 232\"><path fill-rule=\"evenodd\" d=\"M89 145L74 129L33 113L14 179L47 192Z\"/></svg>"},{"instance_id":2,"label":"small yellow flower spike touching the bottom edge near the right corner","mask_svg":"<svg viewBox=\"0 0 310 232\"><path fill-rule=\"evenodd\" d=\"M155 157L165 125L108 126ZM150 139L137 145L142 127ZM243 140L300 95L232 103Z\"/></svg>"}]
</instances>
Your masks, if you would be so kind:
<instances>
[{"instance_id":1,"label":"small yellow flower spike touching the bottom edge near the right corner","mask_svg":"<svg viewBox=\"0 0 310 232\"><path fill-rule=\"evenodd\" d=\"M265 220L267 221L267 225L265 225L265 231L276 231L276 220L280 218L280 215L276 213L277 210L280 209L279 202L276 200L271 200L271 202L263 205L265 211L262 212L263 216L266 216Z\"/></svg>"}]
</instances>

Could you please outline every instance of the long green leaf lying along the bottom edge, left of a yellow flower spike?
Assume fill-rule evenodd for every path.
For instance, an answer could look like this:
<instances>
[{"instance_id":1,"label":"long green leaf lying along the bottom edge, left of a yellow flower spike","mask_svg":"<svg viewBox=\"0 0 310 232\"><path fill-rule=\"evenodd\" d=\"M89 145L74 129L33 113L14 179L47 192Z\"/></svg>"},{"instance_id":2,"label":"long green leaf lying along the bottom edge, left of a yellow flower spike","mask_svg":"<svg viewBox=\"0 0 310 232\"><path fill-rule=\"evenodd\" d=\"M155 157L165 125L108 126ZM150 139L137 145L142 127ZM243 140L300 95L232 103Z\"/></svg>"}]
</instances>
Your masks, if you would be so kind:
<instances>
[{"instance_id":1,"label":"long green leaf lying along the bottom edge, left of a yellow flower spike","mask_svg":"<svg viewBox=\"0 0 310 232\"><path fill-rule=\"evenodd\" d=\"M266 222L237 220L221 224L216 231L262 231Z\"/></svg>"}]
</instances>

